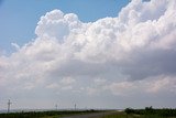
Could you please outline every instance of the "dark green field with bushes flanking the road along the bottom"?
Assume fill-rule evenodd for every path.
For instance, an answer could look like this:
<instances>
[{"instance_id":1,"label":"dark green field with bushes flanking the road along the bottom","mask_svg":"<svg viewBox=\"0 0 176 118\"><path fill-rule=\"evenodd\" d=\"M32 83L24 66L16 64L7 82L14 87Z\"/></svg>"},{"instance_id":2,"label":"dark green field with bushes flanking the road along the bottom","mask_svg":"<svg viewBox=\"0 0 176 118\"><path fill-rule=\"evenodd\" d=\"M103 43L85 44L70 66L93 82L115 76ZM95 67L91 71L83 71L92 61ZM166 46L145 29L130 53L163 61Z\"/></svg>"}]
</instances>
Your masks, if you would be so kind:
<instances>
[{"instance_id":1,"label":"dark green field with bushes flanking the road along the bottom","mask_svg":"<svg viewBox=\"0 0 176 118\"><path fill-rule=\"evenodd\" d=\"M0 114L0 118L62 118L64 116L86 115L92 112L108 112L101 118L176 118L176 109L145 109L127 108L124 111L110 110L64 110L64 111L30 111ZM106 115L106 114L105 114ZM95 117L94 117L95 118Z\"/></svg>"}]
</instances>

